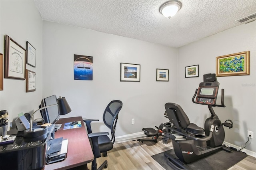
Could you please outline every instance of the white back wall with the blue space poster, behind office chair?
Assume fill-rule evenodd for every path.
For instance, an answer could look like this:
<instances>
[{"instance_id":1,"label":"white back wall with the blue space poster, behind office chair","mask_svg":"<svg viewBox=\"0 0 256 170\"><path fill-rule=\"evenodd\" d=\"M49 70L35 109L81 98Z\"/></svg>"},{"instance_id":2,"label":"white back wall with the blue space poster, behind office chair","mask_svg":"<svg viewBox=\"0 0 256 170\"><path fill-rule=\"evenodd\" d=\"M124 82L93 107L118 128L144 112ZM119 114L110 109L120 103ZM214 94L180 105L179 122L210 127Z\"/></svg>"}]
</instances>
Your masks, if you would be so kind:
<instances>
[{"instance_id":1,"label":"white back wall with the blue space poster, behind office chair","mask_svg":"<svg viewBox=\"0 0 256 170\"><path fill-rule=\"evenodd\" d=\"M115 99L123 102L116 136L142 132L167 122L164 104L176 100L176 48L43 22L43 96L66 97L72 112L62 117L100 119L94 132L107 130L102 114ZM74 54L93 56L93 81L74 80ZM141 65L140 82L120 82L120 63ZM157 82L156 69L170 81ZM131 125L131 119L135 124ZM101 126L102 125L102 126Z\"/></svg>"}]
</instances>

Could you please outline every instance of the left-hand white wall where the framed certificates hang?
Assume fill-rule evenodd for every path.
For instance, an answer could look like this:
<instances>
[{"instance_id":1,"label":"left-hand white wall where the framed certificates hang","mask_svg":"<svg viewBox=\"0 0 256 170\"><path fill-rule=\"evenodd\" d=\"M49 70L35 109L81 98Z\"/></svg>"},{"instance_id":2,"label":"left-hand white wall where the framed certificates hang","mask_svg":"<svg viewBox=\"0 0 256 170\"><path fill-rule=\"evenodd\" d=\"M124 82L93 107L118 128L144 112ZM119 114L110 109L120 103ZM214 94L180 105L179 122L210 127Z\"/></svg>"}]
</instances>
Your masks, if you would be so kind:
<instances>
[{"instance_id":1,"label":"left-hand white wall where the framed certificates hang","mask_svg":"<svg viewBox=\"0 0 256 170\"><path fill-rule=\"evenodd\" d=\"M42 18L34 1L1 0L0 4L0 53L4 53L6 34L25 49L26 41L36 48L36 67L26 65L36 72L36 91L26 93L26 81L18 79L4 79L4 91L0 91L0 110L9 112L10 128L18 113L33 113L42 100Z\"/></svg>"}]
</instances>

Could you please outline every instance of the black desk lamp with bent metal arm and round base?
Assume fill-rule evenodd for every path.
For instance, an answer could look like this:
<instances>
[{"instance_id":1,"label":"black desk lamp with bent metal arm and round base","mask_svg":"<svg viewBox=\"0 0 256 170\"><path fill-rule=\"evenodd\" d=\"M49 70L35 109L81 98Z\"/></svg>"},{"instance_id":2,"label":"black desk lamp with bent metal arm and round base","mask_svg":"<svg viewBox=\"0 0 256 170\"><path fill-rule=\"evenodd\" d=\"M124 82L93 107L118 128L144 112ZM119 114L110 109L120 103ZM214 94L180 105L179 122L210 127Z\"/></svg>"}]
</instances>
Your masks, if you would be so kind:
<instances>
[{"instance_id":1,"label":"black desk lamp with bent metal arm and round base","mask_svg":"<svg viewBox=\"0 0 256 170\"><path fill-rule=\"evenodd\" d=\"M38 137L38 136L41 136L41 135L46 135L47 136L47 132L48 132L47 127L40 126L40 127L34 128L34 129L32 128L32 126L33 126L32 121L33 121L33 118L34 118L34 114L37 111L41 111L43 109L46 109L48 107L53 107L53 106L56 106L56 105L58 105L59 115L66 115L67 113L71 112L71 109L68 105L68 102L66 101L66 98L60 96L60 98L57 99L57 104L45 106L45 107L42 107L42 108L34 111L34 113L32 114L32 116L30 118L30 128L24 130L24 137L25 138L34 138L34 137Z\"/></svg>"}]
</instances>

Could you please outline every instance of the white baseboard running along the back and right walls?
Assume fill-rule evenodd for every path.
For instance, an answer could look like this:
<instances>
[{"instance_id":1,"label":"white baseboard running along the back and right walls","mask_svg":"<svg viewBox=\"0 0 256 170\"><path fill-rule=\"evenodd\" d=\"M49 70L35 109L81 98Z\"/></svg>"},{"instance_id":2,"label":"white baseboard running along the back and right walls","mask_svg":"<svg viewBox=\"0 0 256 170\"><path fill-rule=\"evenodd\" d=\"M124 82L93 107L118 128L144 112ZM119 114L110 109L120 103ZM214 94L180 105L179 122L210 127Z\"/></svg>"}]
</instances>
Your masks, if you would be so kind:
<instances>
[{"instance_id":1,"label":"white baseboard running along the back and right walls","mask_svg":"<svg viewBox=\"0 0 256 170\"><path fill-rule=\"evenodd\" d=\"M137 139L143 138L143 137L146 137L146 134L144 134L144 132L137 132L137 133L127 134L127 135L116 137L115 143L127 142L127 141L131 141L131 140L137 140ZM238 146L236 146L234 144L230 144L228 142L225 142L225 144L228 145L228 146L232 146L234 148L241 149L240 147L238 147ZM246 154L256 158L256 152L252 152L252 151L247 150L247 149L243 149L242 151L246 152Z\"/></svg>"}]
</instances>

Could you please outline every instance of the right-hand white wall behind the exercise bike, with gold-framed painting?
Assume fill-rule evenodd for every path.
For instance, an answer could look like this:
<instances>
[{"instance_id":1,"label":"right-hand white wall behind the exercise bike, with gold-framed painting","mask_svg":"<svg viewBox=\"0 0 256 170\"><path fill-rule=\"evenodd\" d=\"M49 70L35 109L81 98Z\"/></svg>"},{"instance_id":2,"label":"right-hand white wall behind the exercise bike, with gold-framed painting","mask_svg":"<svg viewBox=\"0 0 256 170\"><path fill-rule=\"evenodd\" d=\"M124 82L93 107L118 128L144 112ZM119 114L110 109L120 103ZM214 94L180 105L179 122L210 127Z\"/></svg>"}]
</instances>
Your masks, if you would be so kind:
<instances>
[{"instance_id":1,"label":"right-hand white wall behind the exercise bike, with gold-framed painting","mask_svg":"<svg viewBox=\"0 0 256 170\"><path fill-rule=\"evenodd\" d=\"M184 108L190 122L204 126L210 116L208 107L196 105L191 99L206 73L216 73L216 57L250 51L250 75L217 77L220 89L225 89L226 108L214 108L222 122L231 119L232 129L225 127L225 141L244 147L247 130L254 132L247 150L256 152L256 21L220 32L179 48L178 54L178 103ZM184 67L199 64L199 77L184 78ZM221 91L219 91L219 97ZM217 103L220 104L220 98Z\"/></svg>"}]
</instances>

